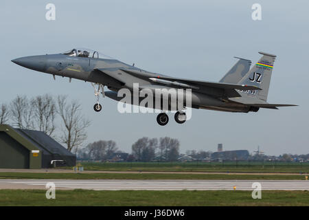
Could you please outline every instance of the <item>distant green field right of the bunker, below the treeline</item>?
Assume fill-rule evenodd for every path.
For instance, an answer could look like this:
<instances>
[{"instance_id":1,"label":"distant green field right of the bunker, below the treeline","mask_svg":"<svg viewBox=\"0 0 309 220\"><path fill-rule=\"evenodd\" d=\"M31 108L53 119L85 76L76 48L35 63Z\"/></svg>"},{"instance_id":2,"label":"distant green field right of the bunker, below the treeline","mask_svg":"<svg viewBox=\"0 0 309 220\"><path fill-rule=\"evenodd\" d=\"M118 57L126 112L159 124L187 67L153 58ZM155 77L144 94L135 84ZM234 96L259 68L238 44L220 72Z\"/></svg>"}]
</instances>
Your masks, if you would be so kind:
<instances>
[{"instance_id":1,"label":"distant green field right of the bunker, below the treeline","mask_svg":"<svg viewBox=\"0 0 309 220\"><path fill-rule=\"evenodd\" d=\"M84 170L222 173L309 173L309 163L294 162L82 162Z\"/></svg>"}]
</instances>

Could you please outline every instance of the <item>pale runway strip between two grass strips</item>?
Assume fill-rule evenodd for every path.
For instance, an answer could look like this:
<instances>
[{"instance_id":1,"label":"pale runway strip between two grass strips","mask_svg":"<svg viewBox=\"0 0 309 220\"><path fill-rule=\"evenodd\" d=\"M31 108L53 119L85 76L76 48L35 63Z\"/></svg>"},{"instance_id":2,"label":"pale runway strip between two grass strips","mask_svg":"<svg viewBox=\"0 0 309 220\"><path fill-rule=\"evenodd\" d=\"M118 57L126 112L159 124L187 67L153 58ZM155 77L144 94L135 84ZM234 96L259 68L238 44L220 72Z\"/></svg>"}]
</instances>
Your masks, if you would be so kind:
<instances>
[{"instance_id":1,"label":"pale runway strip between two grass strips","mask_svg":"<svg viewBox=\"0 0 309 220\"><path fill-rule=\"evenodd\" d=\"M56 189L72 190L253 190L258 182L262 190L309 190L306 180L182 180L182 179L0 179L0 189L45 189L48 182Z\"/></svg>"}]
</instances>

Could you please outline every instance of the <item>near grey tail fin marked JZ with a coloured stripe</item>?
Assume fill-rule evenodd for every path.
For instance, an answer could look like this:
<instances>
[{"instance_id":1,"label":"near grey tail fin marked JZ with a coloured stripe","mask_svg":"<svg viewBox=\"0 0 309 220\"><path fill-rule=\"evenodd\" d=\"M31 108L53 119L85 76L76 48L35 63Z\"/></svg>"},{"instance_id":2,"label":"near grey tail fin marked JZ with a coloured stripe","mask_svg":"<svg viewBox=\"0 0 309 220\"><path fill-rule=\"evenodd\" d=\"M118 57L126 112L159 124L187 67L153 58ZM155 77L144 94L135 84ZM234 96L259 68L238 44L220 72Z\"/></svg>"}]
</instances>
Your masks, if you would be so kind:
<instances>
[{"instance_id":1,"label":"near grey tail fin marked JZ with a coloured stripe","mask_svg":"<svg viewBox=\"0 0 309 220\"><path fill-rule=\"evenodd\" d=\"M260 87L262 90L257 91L243 91L242 96L255 96L266 102L268 96L268 89L271 83L271 72L273 71L273 63L275 62L275 55L262 54L262 58L255 63L249 72L238 82L238 84L254 85Z\"/></svg>"}]
</instances>

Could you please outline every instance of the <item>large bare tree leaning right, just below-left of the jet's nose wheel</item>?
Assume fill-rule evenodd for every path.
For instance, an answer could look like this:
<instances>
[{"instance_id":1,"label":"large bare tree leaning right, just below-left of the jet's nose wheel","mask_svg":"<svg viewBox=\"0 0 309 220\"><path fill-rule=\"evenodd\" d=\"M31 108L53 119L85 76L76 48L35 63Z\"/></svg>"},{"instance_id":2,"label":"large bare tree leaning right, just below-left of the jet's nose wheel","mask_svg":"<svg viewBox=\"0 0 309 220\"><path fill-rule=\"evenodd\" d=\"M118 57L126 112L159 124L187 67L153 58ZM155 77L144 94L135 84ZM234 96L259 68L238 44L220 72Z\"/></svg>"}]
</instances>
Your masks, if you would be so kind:
<instances>
[{"instance_id":1,"label":"large bare tree leaning right, just below-left of the jet's nose wheel","mask_svg":"<svg viewBox=\"0 0 309 220\"><path fill-rule=\"evenodd\" d=\"M77 100L67 102L67 96L58 96L57 112L62 119L62 135L60 142L67 145L67 149L72 151L78 150L84 140L87 139L86 129L90 125L90 121L84 118L80 113L80 104Z\"/></svg>"}]
</instances>

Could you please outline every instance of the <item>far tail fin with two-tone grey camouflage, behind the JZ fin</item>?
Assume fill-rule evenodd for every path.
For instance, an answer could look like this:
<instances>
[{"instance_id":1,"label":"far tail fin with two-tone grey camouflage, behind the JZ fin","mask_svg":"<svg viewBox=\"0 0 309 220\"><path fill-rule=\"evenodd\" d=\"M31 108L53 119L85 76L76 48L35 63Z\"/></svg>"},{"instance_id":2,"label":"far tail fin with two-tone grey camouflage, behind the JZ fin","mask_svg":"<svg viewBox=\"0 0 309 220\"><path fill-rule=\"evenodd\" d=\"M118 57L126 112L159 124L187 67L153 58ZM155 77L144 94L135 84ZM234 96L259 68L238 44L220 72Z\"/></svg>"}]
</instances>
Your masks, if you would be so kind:
<instances>
[{"instance_id":1,"label":"far tail fin with two-tone grey camouflage, behind the JZ fin","mask_svg":"<svg viewBox=\"0 0 309 220\"><path fill-rule=\"evenodd\" d=\"M239 57L235 57L239 58ZM229 72L219 81L219 83L238 83L242 77L249 71L251 66L251 61L239 58L239 61L231 67Z\"/></svg>"}]
</instances>

